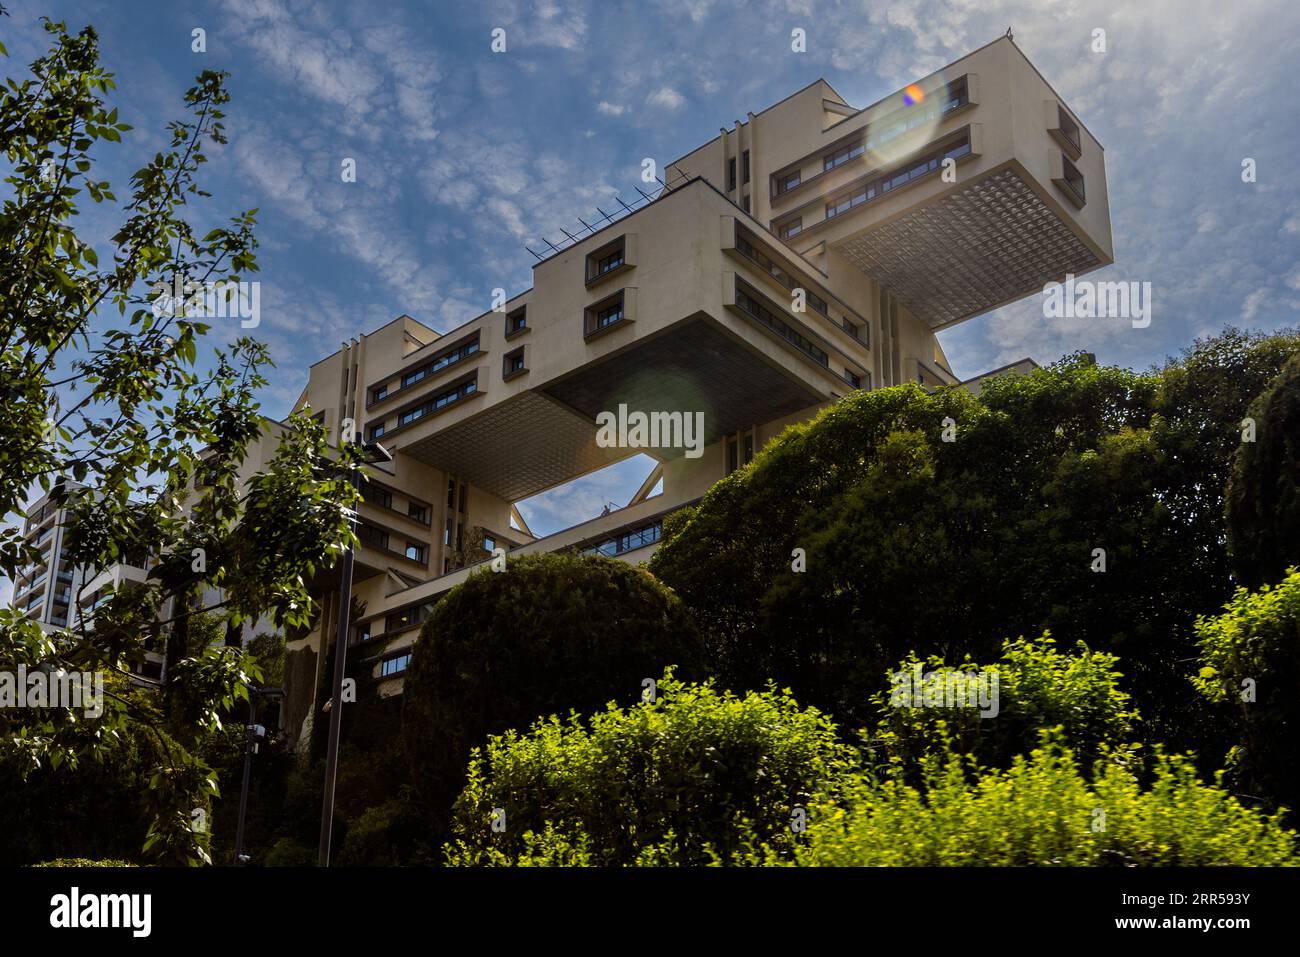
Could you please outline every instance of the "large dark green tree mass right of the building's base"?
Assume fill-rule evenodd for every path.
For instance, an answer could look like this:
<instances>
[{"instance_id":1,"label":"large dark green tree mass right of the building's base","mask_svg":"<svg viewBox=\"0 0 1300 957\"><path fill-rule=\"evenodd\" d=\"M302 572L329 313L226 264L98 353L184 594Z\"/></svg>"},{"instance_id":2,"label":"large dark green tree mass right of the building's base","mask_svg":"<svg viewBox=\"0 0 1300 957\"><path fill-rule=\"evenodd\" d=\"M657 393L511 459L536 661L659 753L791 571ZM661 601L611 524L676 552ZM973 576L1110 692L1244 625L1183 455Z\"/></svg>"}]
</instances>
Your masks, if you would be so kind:
<instances>
[{"instance_id":1,"label":"large dark green tree mass right of the building's base","mask_svg":"<svg viewBox=\"0 0 1300 957\"><path fill-rule=\"evenodd\" d=\"M978 399L853 393L671 516L650 568L723 637L731 687L774 679L845 727L911 651L992 661L1049 631L1121 655L1154 739L1202 746L1179 662L1231 593L1222 488L1251 390L1296 351L1227 330L1148 374L1078 355Z\"/></svg>"}]
</instances>

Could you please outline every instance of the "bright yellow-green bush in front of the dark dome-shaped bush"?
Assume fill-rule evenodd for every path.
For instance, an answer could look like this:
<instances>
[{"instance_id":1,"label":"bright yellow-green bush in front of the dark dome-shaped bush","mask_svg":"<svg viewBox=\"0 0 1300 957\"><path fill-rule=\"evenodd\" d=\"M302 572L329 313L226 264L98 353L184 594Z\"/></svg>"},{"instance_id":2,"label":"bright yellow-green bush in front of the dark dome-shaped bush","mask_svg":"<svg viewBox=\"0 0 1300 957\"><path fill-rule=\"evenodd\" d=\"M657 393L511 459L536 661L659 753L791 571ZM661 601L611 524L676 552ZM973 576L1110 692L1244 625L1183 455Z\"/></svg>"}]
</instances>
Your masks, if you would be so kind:
<instances>
[{"instance_id":1,"label":"bright yellow-green bush in front of the dark dome-shaped bush","mask_svg":"<svg viewBox=\"0 0 1300 957\"><path fill-rule=\"evenodd\" d=\"M736 697L666 676L654 702L610 705L589 726L551 716L476 750L447 859L698 865L755 843L788 852L796 809L850 754L788 692Z\"/></svg>"}]
</instances>

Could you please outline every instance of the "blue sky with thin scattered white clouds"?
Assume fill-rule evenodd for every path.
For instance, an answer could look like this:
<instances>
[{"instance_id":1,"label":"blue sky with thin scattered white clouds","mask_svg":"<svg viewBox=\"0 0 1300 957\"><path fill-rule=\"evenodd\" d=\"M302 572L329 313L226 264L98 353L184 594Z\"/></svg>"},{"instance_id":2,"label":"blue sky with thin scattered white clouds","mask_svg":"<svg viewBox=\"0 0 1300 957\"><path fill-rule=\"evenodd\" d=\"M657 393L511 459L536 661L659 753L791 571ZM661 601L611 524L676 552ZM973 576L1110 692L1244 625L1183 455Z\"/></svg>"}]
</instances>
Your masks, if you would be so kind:
<instances>
[{"instance_id":1,"label":"blue sky with thin scattered white clouds","mask_svg":"<svg viewBox=\"0 0 1300 957\"><path fill-rule=\"evenodd\" d=\"M233 74L230 142L204 177L211 215L260 208L255 333L280 367L263 397L274 416L348 335L403 312L448 329L485 311L494 287L526 289L525 244L636 195L642 157L662 166L818 77L867 105L1009 26L1105 147L1117 263L1104 277L1152 282L1154 315L1147 329L1049 321L1031 298L942 334L958 374L1076 348L1141 368L1228 322L1294 324L1300 307L1300 4L4 5L5 75L43 49L42 14L99 30L114 103L136 127L105 155L118 187L162 146L199 70ZM191 51L196 27L205 53ZM504 53L490 49L497 27ZM794 27L806 53L790 51ZM1097 27L1105 53L1089 48ZM342 182L343 157L356 183ZM86 224L105 251L112 226L107 211ZM645 471L627 463L525 515L534 531L562 528L625 502Z\"/></svg>"}]
</instances>

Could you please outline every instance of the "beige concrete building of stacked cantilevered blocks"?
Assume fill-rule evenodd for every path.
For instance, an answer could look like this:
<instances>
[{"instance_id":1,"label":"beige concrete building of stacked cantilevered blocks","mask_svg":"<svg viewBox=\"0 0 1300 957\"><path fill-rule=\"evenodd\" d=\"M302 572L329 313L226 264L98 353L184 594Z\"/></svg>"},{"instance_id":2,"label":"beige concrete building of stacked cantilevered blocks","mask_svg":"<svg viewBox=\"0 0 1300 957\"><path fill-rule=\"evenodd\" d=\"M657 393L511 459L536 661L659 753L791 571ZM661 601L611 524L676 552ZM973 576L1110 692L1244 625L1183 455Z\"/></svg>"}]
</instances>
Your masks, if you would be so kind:
<instances>
[{"instance_id":1,"label":"beige concrete building of stacked cantilevered blocks","mask_svg":"<svg viewBox=\"0 0 1300 957\"><path fill-rule=\"evenodd\" d=\"M1010 38L862 109L818 81L666 179L499 308L445 333L402 316L311 367L298 408L393 454L360 508L350 651L381 694L497 549L644 560L664 515L788 424L853 389L961 385L939 330L1113 259L1101 146ZM701 454L598 442L620 407L702 413ZM656 465L625 507L542 538L519 514L641 451ZM287 648L290 733L337 633L321 585Z\"/></svg>"}]
</instances>

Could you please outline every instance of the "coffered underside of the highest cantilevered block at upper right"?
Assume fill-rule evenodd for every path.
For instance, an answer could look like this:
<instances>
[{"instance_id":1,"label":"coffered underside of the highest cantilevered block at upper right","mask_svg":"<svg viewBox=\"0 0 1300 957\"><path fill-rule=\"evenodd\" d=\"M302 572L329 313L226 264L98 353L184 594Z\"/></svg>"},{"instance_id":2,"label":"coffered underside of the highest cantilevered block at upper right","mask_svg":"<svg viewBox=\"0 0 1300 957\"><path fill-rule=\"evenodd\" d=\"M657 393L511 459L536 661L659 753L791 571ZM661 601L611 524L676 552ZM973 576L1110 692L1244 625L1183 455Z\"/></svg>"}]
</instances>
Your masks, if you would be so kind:
<instances>
[{"instance_id":1,"label":"coffered underside of the highest cantilevered block at upper right","mask_svg":"<svg viewBox=\"0 0 1300 957\"><path fill-rule=\"evenodd\" d=\"M1102 265L1014 168L835 243L940 329Z\"/></svg>"}]
</instances>

